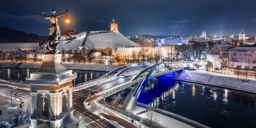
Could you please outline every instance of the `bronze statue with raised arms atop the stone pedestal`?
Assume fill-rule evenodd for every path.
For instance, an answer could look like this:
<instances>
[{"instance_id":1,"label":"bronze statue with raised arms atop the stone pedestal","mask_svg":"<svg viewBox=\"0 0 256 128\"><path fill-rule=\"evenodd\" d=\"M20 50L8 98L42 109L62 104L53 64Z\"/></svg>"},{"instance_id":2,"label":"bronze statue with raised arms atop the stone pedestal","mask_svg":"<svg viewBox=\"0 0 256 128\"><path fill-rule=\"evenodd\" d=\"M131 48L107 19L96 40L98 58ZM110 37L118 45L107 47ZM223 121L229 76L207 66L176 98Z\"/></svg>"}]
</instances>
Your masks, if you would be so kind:
<instances>
[{"instance_id":1,"label":"bronze statue with raised arms atop the stone pedestal","mask_svg":"<svg viewBox=\"0 0 256 128\"><path fill-rule=\"evenodd\" d=\"M47 51L47 53L58 53L59 50L57 49L57 47L59 46L58 44L58 40L60 39L60 28L58 25L58 17L63 16L65 13L68 12L68 7L66 9L66 12L61 13L59 15L55 15L56 11L52 10L52 15L49 17L45 16L45 12L42 11L44 14L44 18L45 19L50 19L52 26L49 27L50 29L50 33L49 33L49 38L45 44L45 49Z\"/></svg>"}]
</instances>

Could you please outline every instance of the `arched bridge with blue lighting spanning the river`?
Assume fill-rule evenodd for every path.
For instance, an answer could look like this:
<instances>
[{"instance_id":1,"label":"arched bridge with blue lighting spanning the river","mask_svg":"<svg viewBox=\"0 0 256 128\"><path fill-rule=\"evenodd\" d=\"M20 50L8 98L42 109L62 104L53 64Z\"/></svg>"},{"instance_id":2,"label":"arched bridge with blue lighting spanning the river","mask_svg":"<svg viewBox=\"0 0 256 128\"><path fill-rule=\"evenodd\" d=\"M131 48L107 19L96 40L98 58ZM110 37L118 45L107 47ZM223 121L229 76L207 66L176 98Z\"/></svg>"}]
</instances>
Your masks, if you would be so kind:
<instances>
[{"instance_id":1,"label":"arched bridge with blue lighting spanning the river","mask_svg":"<svg viewBox=\"0 0 256 128\"><path fill-rule=\"evenodd\" d=\"M175 74L180 70L183 68L173 69L165 64L133 63L109 72L108 76L104 75L99 79L75 85L73 91L85 93L84 90L89 87L96 89L99 87L100 92L97 95L100 96L100 99L116 95L110 105L122 102L122 109L131 111L132 108L135 108L134 105L137 103L140 92L150 77L168 73Z\"/></svg>"}]
</instances>

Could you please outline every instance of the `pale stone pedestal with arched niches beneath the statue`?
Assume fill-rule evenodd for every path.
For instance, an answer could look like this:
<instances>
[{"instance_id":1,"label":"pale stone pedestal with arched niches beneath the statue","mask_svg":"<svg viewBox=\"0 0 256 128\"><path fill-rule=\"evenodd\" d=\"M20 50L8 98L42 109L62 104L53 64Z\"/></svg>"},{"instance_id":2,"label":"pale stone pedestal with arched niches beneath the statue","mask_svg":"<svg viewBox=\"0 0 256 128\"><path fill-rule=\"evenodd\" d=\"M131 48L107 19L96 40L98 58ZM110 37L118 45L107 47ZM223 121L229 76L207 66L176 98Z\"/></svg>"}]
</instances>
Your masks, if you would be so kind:
<instances>
[{"instance_id":1,"label":"pale stone pedestal with arched niches beneath the statue","mask_svg":"<svg viewBox=\"0 0 256 128\"><path fill-rule=\"evenodd\" d=\"M31 73L25 83L31 85L31 128L64 127L74 121L72 80L76 75L61 63L60 54L43 54L38 72Z\"/></svg>"}]
</instances>

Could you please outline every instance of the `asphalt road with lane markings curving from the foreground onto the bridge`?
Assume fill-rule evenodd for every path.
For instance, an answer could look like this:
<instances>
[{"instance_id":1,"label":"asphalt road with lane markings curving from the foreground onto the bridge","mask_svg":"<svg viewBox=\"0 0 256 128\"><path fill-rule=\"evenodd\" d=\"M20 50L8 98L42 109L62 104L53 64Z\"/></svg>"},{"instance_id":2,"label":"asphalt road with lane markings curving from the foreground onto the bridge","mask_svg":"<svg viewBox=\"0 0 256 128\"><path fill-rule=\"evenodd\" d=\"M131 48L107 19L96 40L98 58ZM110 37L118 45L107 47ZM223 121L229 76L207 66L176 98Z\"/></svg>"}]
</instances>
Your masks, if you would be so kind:
<instances>
[{"instance_id":1,"label":"asphalt road with lane markings curving from the foreground onto the bridge","mask_svg":"<svg viewBox=\"0 0 256 128\"><path fill-rule=\"evenodd\" d=\"M129 81L134 77L136 74L127 75L125 77L119 77L117 79L110 80L108 82L104 82L100 84L100 90L104 90L116 84ZM95 95L96 90L98 89L98 85L94 85L90 87L90 94ZM89 88L79 90L73 92L73 115L74 117L81 117L84 118L82 124L89 127L89 128L114 128L115 126L111 125L105 119L101 119L98 115L95 115L90 110L86 110L84 106L84 101L87 99L87 95L89 94Z\"/></svg>"}]
</instances>

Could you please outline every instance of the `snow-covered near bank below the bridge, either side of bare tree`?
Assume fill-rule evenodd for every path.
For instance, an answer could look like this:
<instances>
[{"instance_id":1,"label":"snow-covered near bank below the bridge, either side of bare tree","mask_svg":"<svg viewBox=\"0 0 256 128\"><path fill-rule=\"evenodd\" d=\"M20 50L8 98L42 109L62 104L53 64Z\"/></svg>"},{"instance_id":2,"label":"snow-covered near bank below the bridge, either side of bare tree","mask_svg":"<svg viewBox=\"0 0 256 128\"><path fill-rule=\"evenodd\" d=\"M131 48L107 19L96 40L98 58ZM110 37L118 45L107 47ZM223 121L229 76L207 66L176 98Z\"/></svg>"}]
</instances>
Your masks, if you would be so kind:
<instances>
[{"instance_id":1,"label":"snow-covered near bank below the bridge, either side of bare tree","mask_svg":"<svg viewBox=\"0 0 256 128\"><path fill-rule=\"evenodd\" d=\"M143 112L144 111L144 112ZM138 114L138 116L145 118L146 117L146 109L141 108L139 106L136 106L134 112L134 114ZM154 112L156 113L156 112ZM192 126L189 126L185 123L182 123L178 120L175 120L171 117L156 113L157 117L159 118L159 124L161 124L162 126L166 127L166 128L193 128Z\"/></svg>"}]
</instances>

